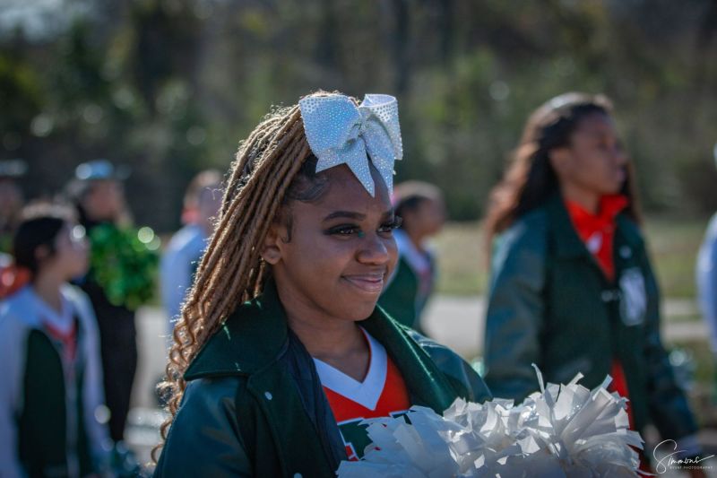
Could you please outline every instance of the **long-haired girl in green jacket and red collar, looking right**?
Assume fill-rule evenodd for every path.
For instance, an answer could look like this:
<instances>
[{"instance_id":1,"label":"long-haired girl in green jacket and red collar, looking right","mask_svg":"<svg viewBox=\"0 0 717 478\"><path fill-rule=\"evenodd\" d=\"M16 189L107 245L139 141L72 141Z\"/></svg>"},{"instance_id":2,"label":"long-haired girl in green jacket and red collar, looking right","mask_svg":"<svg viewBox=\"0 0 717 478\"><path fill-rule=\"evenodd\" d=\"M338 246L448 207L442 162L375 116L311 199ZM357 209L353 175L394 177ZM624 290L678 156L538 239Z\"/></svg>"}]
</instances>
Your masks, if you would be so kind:
<instances>
[{"instance_id":1,"label":"long-haired girl in green jacket and red collar, looking right","mask_svg":"<svg viewBox=\"0 0 717 478\"><path fill-rule=\"evenodd\" d=\"M695 456L695 419L661 343L635 173L611 111L602 96L549 100L492 193L485 378L496 396L522 401L538 389L532 363L553 383L582 373L596 387L611 375L635 430L653 422L679 456Z\"/></svg>"}]
</instances>

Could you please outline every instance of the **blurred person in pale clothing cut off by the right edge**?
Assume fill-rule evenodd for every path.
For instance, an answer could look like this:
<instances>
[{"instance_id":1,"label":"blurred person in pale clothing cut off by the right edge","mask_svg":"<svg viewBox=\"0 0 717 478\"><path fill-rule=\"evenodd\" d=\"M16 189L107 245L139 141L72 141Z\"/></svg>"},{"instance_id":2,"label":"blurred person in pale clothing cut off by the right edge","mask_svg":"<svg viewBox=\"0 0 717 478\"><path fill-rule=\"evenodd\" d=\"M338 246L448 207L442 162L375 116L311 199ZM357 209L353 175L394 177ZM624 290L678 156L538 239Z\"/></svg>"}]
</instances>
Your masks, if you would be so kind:
<instances>
[{"instance_id":1,"label":"blurred person in pale clothing cut off by the right edge","mask_svg":"<svg viewBox=\"0 0 717 478\"><path fill-rule=\"evenodd\" d=\"M717 144L714 145L714 160L717 162ZM717 213L707 225L704 240L697 256L696 267L697 298L702 317L710 329L715 375L713 379L713 400L717 401Z\"/></svg>"}]
</instances>

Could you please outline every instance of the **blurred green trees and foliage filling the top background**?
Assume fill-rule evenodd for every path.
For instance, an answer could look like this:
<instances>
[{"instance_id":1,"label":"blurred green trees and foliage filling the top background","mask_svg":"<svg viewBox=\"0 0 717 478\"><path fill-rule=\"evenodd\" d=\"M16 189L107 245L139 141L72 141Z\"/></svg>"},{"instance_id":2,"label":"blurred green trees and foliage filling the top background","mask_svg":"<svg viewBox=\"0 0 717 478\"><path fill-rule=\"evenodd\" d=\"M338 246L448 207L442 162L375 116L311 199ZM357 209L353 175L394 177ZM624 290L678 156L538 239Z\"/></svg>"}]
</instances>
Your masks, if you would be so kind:
<instances>
[{"instance_id":1,"label":"blurred green trees and foliage filling the top background","mask_svg":"<svg viewBox=\"0 0 717 478\"><path fill-rule=\"evenodd\" d=\"M717 0L56 0L8 21L31 4L0 6L0 158L30 162L29 196L106 157L134 168L138 222L169 230L272 105L387 92L398 179L476 219L531 110L581 90L614 100L648 209L717 209Z\"/></svg>"}]
</instances>

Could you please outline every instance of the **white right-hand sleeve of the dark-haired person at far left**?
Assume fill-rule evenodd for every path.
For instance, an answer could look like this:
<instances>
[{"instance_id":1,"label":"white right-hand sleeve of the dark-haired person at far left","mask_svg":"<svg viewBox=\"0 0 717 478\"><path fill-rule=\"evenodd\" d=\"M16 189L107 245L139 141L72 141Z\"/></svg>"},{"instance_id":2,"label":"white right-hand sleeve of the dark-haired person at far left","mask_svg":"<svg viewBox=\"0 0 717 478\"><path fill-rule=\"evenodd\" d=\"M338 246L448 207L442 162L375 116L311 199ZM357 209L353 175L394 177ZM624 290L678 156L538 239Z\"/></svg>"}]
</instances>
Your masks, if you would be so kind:
<instances>
[{"instance_id":1,"label":"white right-hand sleeve of the dark-haired person at far left","mask_svg":"<svg viewBox=\"0 0 717 478\"><path fill-rule=\"evenodd\" d=\"M112 440L106 422L99 422L105 411L105 393L102 381L102 362L99 355L99 331L90 300L82 291L75 291L75 306L82 326L82 352L85 356L82 399L84 422L90 438L92 456L99 463L108 458Z\"/></svg>"}]
</instances>

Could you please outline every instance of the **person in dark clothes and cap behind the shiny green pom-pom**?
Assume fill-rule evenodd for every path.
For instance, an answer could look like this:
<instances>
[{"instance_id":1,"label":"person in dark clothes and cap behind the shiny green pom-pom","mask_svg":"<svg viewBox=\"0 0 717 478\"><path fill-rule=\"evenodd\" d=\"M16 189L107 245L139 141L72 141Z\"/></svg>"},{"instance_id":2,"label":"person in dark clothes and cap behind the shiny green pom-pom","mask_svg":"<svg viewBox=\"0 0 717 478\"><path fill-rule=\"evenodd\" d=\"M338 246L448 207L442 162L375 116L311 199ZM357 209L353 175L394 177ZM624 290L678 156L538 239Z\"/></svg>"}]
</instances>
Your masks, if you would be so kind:
<instances>
[{"instance_id":1,"label":"person in dark clothes and cap behind the shiny green pom-pom","mask_svg":"<svg viewBox=\"0 0 717 478\"><path fill-rule=\"evenodd\" d=\"M96 246L92 243L92 230L115 225L125 215L121 181L128 175L127 169L116 168L106 160L85 162L75 169L69 193L80 223L91 239L91 247ZM96 272L91 267L80 285L90 297L97 316L105 396L110 412L109 432L114 441L120 441L124 439L137 368L134 310L110 301L108 291L96 279Z\"/></svg>"}]
</instances>

